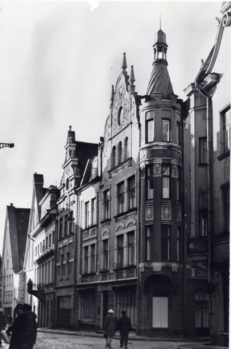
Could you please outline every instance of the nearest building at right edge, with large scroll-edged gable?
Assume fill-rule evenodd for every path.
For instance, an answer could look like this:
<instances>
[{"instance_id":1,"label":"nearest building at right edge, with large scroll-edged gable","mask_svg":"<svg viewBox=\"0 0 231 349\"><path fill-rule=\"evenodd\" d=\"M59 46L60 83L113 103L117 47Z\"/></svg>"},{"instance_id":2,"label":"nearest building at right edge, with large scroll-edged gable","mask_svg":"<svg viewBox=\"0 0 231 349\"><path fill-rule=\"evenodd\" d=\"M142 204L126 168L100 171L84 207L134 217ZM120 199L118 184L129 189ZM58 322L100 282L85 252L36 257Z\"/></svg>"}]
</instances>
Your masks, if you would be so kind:
<instances>
[{"instance_id":1,"label":"nearest building at right edge, with large scroll-edged gable","mask_svg":"<svg viewBox=\"0 0 231 349\"><path fill-rule=\"evenodd\" d=\"M195 309L186 326L223 346L229 345L230 25L231 2L223 2L215 45L184 90L190 103L184 121L188 297Z\"/></svg>"}]
</instances>

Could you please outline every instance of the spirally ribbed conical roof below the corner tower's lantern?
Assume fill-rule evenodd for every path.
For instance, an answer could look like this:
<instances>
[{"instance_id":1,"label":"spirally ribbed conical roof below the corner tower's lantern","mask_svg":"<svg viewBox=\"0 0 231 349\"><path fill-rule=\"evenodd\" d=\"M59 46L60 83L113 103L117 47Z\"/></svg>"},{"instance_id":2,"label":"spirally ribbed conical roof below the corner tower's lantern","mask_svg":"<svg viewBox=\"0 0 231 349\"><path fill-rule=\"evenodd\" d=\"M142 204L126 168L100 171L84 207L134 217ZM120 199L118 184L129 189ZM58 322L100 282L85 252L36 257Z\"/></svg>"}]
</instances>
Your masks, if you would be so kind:
<instances>
[{"instance_id":1,"label":"spirally ribbed conical roof below the corner tower's lantern","mask_svg":"<svg viewBox=\"0 0 231 349\"><path fill-rule=\"evenodd\" d=\"M163 99L167 99L169 94L173 94L172 84L165 60L162 61L161 59L158 59L153 63L146 95L150 96L154 92L162 92Z\"/></svg>"}]
</instances>

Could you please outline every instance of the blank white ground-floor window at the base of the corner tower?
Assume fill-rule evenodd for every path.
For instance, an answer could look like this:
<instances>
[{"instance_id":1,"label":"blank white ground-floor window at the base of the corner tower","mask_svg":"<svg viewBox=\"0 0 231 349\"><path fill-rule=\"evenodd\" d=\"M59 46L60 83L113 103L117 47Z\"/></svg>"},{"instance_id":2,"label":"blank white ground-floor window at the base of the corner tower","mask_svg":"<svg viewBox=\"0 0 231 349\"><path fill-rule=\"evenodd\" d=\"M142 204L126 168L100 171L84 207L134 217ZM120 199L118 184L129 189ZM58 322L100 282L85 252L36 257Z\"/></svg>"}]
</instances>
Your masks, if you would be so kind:
<instances>
[{"instance_id":1,"label":"blank white ground-floor window at the base of the corner tower","mask_svg":"<svg viewBox=\"0 0 231 349\"><path fill-rule=\"evenodd\" d=\"M168 328L169 299L168 297L152 297L152 327Z\"/></svg>"}]
</instances>

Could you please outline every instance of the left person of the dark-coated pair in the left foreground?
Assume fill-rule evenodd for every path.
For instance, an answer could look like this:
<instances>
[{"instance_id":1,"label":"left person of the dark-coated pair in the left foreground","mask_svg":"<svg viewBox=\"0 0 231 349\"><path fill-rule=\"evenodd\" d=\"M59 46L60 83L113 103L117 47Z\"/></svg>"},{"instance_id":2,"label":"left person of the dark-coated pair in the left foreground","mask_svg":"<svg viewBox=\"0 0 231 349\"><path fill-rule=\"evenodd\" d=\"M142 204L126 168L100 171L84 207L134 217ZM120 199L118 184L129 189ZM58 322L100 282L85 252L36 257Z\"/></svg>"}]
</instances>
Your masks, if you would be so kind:
<instances>
[{"instance_id":1,"label":"left person of the dark-coated pair in the left foreground","mask_svg":"<svg viewBox=\"0 0 231 349\"><path fill-rule=\"evenodd\" d=\"M18 303L15 307L14 312L17 317L13 325L9 326L6 330L6 334L10 336L9 349L22 349L22 343L25 334L25 315L23 313L23 304Z\"/></svg>"}]
</instances>

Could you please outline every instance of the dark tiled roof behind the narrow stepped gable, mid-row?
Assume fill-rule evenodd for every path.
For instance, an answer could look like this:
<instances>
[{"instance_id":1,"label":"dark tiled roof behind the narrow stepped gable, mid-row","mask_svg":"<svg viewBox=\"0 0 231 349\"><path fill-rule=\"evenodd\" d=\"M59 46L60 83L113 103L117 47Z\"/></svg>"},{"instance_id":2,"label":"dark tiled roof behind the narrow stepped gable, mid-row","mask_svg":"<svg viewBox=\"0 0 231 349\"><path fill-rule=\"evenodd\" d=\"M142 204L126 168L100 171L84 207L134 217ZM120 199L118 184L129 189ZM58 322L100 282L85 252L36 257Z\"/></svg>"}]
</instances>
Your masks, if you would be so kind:
<instances>
[{"instance_id":1,"label":"dark tiled roof behind the narrow stepped gable, mid-row","mask_svg":"<svg viewBox=\"0 0 231 349\"><path fill-rule=\"evenodd\" d=\"M98 155L98 146L97 143L76 142L75 154L78 158L78 168L81 177L83 176L88 159L92 159Z\"/></svg>"}]
</instances>

